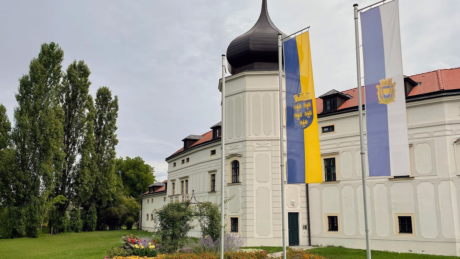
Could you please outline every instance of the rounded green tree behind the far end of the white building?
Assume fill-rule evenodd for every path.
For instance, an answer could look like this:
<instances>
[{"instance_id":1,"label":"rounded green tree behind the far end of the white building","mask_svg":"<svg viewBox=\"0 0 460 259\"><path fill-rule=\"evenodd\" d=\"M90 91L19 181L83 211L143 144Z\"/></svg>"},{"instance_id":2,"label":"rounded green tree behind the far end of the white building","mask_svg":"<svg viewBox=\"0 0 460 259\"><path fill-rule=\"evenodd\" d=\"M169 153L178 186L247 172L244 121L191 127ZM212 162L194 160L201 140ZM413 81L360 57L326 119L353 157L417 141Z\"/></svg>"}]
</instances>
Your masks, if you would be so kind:
<instances>
[{"instance_id":1,"label":"rounded green tree behind the far end of the white building","mask_svg":"<svg viewBox=\"0 0 460 259\"><path fill-rule=\"evenodd\" d=\"M127 197L134 197L138 202L140 202L140 195L155 182L154 168L145 164L141 157L117 159L115 171L123 181L124 194Z\"/></svg>"}]
</instances>

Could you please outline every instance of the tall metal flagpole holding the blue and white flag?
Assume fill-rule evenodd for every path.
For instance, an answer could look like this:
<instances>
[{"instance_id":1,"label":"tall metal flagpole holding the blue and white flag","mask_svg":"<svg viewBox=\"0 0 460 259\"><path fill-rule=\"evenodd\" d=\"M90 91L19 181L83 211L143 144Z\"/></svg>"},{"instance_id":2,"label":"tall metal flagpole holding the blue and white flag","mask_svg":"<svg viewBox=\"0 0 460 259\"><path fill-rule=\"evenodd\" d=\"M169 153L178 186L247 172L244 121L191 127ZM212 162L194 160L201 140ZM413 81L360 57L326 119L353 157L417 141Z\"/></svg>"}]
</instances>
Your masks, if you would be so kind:
<instances>
[{"instance_id":1,"label":"tall metal flagpole holding the blue and white flag","mask_svg":"<svg viewBox=\"0 0 460 259\"><path fill-rule=\"evenodd\" d=\"M368 226L368 199L367 199L367 184L366 184L366 156L364 152L364 130L362 126L362 93L361 93L361 64L359 57L359 28L358 28L358 4L354 4L355 15L355 42L356 42L356 74L358 84L358 116L359 116L359 143L361 146L361 175L362 175L362 200L364 203L364 228L366 230L366 255L367 259L371 259L371 248L369 239Z\"/></svg>"}]
</instances>

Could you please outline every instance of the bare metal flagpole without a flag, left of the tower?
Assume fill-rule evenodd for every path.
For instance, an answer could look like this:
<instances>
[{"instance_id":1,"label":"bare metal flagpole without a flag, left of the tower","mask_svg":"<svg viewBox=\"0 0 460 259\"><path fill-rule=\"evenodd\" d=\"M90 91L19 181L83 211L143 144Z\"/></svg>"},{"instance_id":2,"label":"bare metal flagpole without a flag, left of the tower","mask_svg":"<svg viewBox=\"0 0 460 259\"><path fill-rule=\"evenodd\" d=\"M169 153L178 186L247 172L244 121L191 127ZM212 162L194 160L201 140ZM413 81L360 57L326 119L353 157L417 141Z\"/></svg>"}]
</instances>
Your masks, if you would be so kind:
<instances>
[{"instance_id":1,"label":"bare metal flagpole without a flag, left of the tower","mask_svg":"<svg viewBox=\"0 0 460 259\"><path fill-rule=\"evenodd\" d=\"M224 160L225 160L225 137L224 137L224 116L225 116L225 55L222 55L222 113L221 113L221 157L220 157L220 259L224 259Z\"/></svg>"}]
</instances>

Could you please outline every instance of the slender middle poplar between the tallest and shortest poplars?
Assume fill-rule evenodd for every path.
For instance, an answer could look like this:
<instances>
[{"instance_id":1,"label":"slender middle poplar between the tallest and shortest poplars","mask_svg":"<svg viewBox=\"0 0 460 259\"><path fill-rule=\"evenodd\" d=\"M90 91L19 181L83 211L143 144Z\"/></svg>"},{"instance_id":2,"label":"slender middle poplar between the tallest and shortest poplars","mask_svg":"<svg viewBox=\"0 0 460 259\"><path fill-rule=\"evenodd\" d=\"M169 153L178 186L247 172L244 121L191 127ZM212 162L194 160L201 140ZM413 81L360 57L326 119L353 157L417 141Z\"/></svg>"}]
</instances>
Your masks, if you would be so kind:
<instances>
[{"instance_id":1,"label":"slender middle poplar between the tallest and shortest poplars","mask_svg":"<svg viewBox=\"0 0 460 259\"><path fill-rule=\"evenodd\" d=\"M63 120L63 152L64 165L61 178L57 179L55 195L63 195L69 201L74 198L74 183L78 173L77 157L81 155L81 147L85 140L87 124L86 113L89 107L88 92L91 82L89 81L90 70L88 66L80 60L78 63L74 60L67 68L63 76L61 88L61 106L64 112ZM90 122L93 124L93 122ZM49 203L48 203L49 204ZM56 219L66 217L65 211L69 202L53 203L55 204L57 215ZM65 228L57 228L64 230Z\"/></svg>"}]
</instances>

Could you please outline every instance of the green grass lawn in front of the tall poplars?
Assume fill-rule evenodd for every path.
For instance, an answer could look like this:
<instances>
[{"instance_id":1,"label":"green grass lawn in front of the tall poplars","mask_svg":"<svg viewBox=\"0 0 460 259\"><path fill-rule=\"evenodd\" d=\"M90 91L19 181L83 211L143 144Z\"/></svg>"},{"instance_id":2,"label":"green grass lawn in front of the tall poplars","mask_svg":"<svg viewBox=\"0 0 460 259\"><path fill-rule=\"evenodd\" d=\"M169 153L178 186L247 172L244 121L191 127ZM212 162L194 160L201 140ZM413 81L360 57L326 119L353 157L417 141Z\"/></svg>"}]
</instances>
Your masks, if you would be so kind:
<instances>
[{"instance_id":1,"label":"green grass lawn in front of the tall poplars","mask_svg":"<svg viewBox=\"0 0 460 259\"><path fill-rule=\"evenodd\" d=\"M152 235L140 230L107 230L0 239L0 258L103 259L109 248L121 246L121 236L127 234Z\"/></svg>"}]
</instances>

